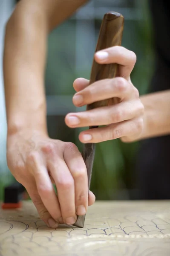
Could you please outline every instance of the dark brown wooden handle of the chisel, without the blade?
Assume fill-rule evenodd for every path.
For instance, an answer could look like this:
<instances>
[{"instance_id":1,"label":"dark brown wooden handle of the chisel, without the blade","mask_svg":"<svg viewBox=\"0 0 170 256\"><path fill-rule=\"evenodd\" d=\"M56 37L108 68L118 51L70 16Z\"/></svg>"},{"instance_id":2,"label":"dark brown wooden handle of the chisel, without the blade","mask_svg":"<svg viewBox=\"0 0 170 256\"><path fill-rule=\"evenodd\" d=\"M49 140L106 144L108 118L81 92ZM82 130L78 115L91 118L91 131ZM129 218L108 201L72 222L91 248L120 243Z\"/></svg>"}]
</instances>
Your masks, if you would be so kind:
<instances>
[{"instance_id":1,"label":"dark brown wooden handle of the chisel, without the blade","mask_svg":"<svg viewBox=\"0 0 170 256\"><path fill-rule=\"evenodd\" d=\"M113 46L120 46L124 29L124 17L117 12L108 12L104 15L95 52ZM114 78L118 64L98 64L95 59L89 84L102 79ZM87 105L87 110L107 106L109 99Z\"/></svg>"}]
</instances>

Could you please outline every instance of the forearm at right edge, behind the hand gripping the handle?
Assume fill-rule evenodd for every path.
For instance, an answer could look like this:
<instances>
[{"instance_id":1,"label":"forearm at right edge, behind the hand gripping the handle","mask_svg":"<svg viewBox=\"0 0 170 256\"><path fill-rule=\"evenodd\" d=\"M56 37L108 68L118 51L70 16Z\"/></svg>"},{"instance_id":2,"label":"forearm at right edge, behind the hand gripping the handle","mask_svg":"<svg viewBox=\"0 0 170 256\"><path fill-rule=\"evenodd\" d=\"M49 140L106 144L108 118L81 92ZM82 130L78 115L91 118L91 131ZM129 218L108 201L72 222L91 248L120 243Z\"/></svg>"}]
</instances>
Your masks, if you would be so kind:
<instances>
[{"instance_id":1,"label":"forearm at right edge, behind the hand gripping the handle","mask_svg":"<svg viewBox=\"0 0 170 256\"><path fill-rule=\"evenodd\" d=\"M170 90L141 96L144 131L141 139L170 134Z\"/></svg>"}]
</instances>

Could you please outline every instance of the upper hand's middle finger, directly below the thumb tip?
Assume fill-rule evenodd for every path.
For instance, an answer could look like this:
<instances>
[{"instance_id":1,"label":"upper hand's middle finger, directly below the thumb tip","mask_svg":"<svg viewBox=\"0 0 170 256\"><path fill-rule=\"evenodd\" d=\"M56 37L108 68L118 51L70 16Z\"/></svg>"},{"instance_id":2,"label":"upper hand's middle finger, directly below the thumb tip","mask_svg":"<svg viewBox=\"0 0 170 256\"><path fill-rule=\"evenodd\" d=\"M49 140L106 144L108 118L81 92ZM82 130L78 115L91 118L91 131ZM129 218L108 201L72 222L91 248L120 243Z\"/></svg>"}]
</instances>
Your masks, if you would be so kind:
<instances>
[{"instance_id":1,"label":"upper hand's middle finger, directly below the thumb tip","mask_svg":"<svg viewBox=\"0 0 170 256\"><path fill-rule=\"evenodd\" d=\"M104 99L119 98L122 100L136 99L138 90L126 79L117 77L104 79L90 84L85 89L75 93L73 103L77 107L89 105Z\"/></svg>"}]
</instances>

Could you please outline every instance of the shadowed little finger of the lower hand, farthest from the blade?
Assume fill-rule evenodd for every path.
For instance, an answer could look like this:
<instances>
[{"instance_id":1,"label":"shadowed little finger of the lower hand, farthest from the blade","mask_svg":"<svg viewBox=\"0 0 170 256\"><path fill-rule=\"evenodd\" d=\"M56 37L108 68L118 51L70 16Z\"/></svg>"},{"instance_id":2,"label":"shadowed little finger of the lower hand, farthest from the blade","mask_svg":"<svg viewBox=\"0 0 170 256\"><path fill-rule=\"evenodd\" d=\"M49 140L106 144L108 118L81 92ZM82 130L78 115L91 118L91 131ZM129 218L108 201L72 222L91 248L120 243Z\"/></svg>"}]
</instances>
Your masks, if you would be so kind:
<instances>
[{"instance_id":1,"label":"shadowed little finger of the lower hand, farthest from the blade","mask_svg":"<svg viewBox=\"0 0 170 256\"><path fill-rule=\"evenodd\" d=\"M46 223L48 227L57 228L58 222L55 221L54 218L52 218L52 216L49 214L48 210L44 206L43 201L41 200L40 195L37 191L35 180L27 180L27 183L24 186L29 193L33 204L35 205L40 218Z\"/></svg>"}]
</instances>

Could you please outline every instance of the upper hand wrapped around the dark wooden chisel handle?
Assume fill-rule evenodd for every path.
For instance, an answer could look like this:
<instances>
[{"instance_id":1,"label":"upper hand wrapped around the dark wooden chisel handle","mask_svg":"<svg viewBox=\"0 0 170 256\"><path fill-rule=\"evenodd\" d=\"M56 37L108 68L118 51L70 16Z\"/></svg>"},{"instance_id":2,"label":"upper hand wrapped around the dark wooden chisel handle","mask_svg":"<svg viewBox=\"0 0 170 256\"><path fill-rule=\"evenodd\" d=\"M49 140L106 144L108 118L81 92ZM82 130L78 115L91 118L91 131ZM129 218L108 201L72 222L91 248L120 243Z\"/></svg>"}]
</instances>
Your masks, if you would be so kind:
<instances>
[{"instance_id":1,"label":"upper hand wrapped around the dark wooden chisel handle","mask_svg":"<svg viewBox=\"0 0 170 256\"><path fill-rule=\"evenodd\" d=\"M98 143L117 138L124 142L133 141L140 136L144 126L144 106L139 99L138 90L130 80L130 73L136 62L135 53L116 46L96 52L95 61L99 64L119 64L117 76L91 85L86 79L76 79L73 84L77 92L73 97L74 105L81 107L114 97L120 99L119 103L69 113L65 118L66 125L70 128L105 125L81 132L79 140L82 143Z\"/></svg>"}]
</instances>

